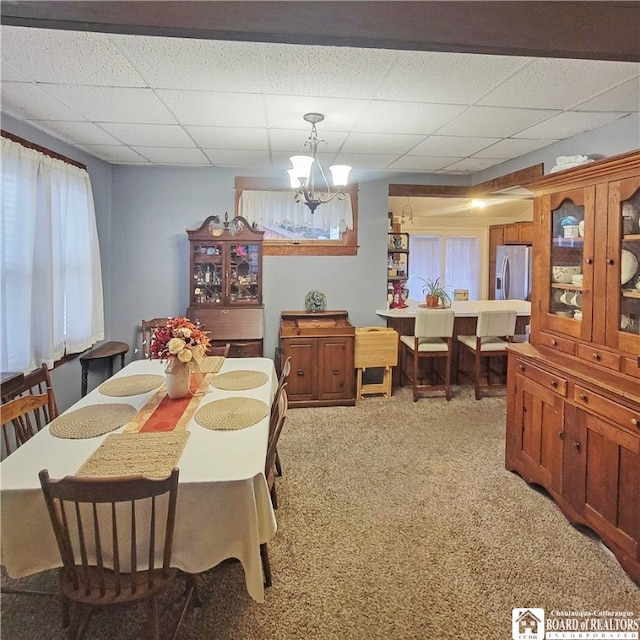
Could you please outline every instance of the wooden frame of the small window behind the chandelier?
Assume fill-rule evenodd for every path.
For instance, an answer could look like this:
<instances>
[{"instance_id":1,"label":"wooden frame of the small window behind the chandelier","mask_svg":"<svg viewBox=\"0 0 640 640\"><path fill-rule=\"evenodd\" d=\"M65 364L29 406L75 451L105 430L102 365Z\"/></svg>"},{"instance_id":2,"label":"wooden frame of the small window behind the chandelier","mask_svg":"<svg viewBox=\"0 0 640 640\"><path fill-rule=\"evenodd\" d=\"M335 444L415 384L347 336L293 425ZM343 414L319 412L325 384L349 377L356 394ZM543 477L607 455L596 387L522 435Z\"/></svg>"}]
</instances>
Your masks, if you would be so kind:
<instances>
[{"instance_id":1,"label":"wooden frame of the small window behind the chandelier","mask_svg":"<svg viewBox=\"0 0 640 640\"><path fill-rule=\"evenodd\" d=\"M288 191L293 198L293 190L277 178L252 178L237 176L235 188L235 215L238 215L240 196L247 191ZM358 255L358 185L350 184L341 188L351 198L353 229L347 229L340 240L263 240L262 253L265 256L355 256Z\"/></svg>"}]
</instances>

